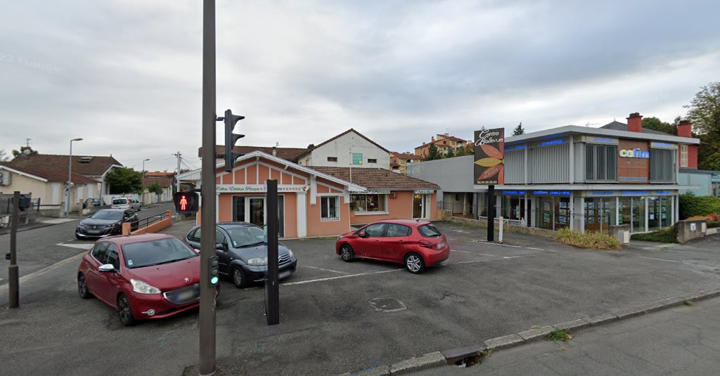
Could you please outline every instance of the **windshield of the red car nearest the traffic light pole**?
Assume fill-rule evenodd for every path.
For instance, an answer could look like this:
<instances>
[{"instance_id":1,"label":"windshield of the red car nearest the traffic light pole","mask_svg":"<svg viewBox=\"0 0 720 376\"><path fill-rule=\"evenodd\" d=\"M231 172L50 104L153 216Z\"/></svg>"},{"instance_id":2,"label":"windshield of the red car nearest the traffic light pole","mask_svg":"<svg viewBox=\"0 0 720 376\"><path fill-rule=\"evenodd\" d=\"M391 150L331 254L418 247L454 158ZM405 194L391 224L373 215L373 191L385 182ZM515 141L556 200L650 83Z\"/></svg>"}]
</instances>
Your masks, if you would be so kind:
<instances>
[{"instance_id":1,"label":"windshield of the red car nearest the traffic light pole","mask_svg":"<svg viewBox=\"0 0 720 376\"><path fill-rule=\"evenodd\" d=\"M189 246L176 238L142 241L122 246L125 267L129 269L169 264L171 262L197 257Z\"/></svg>"}]
</instances>

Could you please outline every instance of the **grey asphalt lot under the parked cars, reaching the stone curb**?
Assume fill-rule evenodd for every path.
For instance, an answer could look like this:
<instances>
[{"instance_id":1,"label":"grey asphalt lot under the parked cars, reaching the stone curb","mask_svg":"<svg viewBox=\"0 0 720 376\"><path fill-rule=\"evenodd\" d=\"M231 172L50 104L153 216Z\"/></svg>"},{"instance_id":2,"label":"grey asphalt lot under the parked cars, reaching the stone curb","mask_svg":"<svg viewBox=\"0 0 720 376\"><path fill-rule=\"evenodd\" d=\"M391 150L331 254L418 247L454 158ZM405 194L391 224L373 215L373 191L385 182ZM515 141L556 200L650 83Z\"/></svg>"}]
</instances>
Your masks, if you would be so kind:
<instances>
[{"instance_id":1,"label":"grey asphalt lot under the parked cars, reaching the stone curb","mask_svg":"<svg viewBox=\"0 0 720 376\"><path fill-rule=\"evenodd\" d=\"M182 234L192 223L168 232ZM336 375L428 352L720 285L720 241L588 251L546 238L439 223L451 257L425 274L346 263L334 238L284 241L297 272L280 287L281 323L266 326L261 287L223 282L217 365L225 375ZM197 311L123 328L76 294L69 262L21 285L0 311L2 374L181 375L197 363ZM6 293L0 295L6 305ZM192 375L192 368L187 370Z\"/></svg>"}]
</instances>

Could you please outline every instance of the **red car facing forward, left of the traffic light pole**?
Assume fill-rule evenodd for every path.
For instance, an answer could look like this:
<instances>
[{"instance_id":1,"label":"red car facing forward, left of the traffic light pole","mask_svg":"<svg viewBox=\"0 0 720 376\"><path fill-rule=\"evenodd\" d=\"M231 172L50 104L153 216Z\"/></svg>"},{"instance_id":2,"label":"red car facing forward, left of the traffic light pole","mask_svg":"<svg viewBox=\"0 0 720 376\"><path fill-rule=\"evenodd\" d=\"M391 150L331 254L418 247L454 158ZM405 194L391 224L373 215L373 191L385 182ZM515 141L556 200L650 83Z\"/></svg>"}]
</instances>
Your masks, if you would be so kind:
<instances>
[{"instance_id":1,"label":"red car facing forward, left of the traffic light pole","mask_svg":"<svg viewBox=\"0 0 720 376\"><path fill-rule=\"evenodd\" d=\"M164 318L199 305L200 257L178 238L159 233L97 241L78 267L78 293L117 309L120 323ZM220 285L217 285L217 292Z\"/></svg>"}]
</instances>

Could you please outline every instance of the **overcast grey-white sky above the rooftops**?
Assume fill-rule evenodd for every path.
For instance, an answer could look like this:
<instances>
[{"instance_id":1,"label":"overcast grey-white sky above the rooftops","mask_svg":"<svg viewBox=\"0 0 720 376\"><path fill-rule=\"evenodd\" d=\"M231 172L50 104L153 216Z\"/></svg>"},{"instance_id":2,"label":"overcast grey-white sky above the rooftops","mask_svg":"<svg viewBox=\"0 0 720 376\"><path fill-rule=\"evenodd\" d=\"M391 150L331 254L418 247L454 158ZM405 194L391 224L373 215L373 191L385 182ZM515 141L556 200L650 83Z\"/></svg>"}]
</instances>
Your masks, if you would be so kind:
<instances>
[{"instance_id":1,"label":"overcast grey-white sky above the rooftops","mask_svg":"<svg viewBox=\"0 0 720 376\"><path fill-rule=\"evenodd\" d=\"M217 1L217 112L239 144L305 147L354 127L392 151L598 127L631 112L671 122L720 80L708 1ZM199 167L202 1L4 1L0 149ZM220 130L220 127L218 127ZM218 143L222 134L218 133ZM183 166L185 167L185 166Z\"/></svg>"}]
</instances>

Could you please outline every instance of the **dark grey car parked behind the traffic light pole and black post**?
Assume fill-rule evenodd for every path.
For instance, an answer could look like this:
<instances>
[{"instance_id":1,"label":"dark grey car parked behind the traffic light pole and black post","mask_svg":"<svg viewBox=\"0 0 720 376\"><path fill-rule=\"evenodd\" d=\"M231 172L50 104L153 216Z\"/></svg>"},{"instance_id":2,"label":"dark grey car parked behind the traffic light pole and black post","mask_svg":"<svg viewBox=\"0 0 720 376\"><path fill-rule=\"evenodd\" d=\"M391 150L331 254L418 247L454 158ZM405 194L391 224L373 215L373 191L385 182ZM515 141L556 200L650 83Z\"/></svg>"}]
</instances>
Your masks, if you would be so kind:
<instances>
[{"instance_id":1,"label":"dark grey car parked behind the traffic light pole and black post","mask_svg":"<svg viewBox=\"0 0 720 376\"><path fill-rule=\"evenodd\" d=\"M202 229L195 226L185 236L194 249L200 249ZM218 272L229 277L236 287L246 287L265 280L267 273L267 243L262 228L245 222L218 223L215 229L215 253ZM290 277L297 267L292 251L279 243L278 277Z\"/></svg>"}]
</instances>

